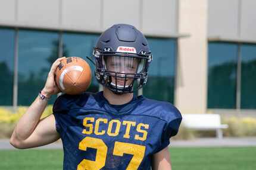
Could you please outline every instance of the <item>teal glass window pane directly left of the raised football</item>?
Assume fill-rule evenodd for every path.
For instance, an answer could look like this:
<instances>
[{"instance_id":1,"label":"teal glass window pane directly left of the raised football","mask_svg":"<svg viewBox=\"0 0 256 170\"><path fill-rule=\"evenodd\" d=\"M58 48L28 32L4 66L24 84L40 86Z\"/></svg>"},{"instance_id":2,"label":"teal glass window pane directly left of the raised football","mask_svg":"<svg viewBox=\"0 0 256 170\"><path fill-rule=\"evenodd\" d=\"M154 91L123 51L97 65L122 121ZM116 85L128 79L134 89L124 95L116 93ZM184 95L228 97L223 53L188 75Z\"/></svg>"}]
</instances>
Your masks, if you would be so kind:
<instances>
[{"instance_id":1,"label":"teal glass window pane directly left of the raised football","mask_svg":"<svg viewBox=\"0 0 256 170\"><path fill-rule=\"evenodd\" d=\"M58 58L58 33L20 30L18 39L18 105L30 105ZM49 104L53 104L52 97Z\"/></svg>"}]
</instances>

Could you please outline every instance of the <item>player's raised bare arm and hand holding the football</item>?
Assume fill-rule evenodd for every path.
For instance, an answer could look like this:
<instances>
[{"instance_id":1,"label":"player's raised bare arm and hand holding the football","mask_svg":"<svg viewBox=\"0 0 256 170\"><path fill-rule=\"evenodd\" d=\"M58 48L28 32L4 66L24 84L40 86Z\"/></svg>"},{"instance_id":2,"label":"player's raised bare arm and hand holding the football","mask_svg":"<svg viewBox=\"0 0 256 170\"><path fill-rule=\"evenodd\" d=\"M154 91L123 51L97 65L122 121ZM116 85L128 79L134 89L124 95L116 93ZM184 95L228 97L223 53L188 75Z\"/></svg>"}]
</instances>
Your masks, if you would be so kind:
<instances>
[{"instance_id":1,"label":"player's raised bare arm and hand holding the football","mask_svg":"<svg viewBox=\"0 0 256 170\"><path fill-rule=\"evenodd\" d=\"M52 64L48 74L45 87L42 90L42 94L48 98L60 92L54 81L54 73L63 58L57 59ZM60 138L55 128L55 118L53 115L40 120L46 105L47 100L41 100L39 97L36 98L18 121L10 139L11 145L18 149L25 149L46 145Z\"/></svg>"}]
</instances>

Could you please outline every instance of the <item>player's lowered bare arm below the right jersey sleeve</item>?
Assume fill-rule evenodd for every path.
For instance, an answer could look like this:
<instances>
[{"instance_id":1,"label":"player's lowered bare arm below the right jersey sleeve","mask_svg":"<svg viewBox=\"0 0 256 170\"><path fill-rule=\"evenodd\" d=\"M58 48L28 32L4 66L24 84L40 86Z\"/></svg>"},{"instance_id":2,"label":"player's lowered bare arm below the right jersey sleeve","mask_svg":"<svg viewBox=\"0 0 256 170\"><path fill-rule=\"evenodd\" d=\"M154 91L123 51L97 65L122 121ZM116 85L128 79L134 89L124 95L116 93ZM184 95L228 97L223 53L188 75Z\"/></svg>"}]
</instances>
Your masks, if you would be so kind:
<instances>
[{"instance_id":1,"label":"player's lowered bare arm below the right jersey sleeve","mask_svg":"<svg viewBox=\"0 0 256 170\"><path fill-rule=\"evenodd\" d=\"M168 146L153 155L153 170L171 170L170 152Z\"/></svg>"}]
</instances>

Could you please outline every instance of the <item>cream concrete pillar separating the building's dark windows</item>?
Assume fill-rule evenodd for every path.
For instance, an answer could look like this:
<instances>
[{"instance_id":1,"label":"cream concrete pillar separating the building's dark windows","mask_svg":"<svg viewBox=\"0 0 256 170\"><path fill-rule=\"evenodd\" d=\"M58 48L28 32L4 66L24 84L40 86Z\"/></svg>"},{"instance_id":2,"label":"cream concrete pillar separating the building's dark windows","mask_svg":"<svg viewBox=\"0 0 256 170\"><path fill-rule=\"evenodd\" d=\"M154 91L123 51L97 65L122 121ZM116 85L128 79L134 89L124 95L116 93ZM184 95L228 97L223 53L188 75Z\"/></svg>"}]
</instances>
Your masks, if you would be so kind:
<instances>
[{"instance_id":1,"label":"cream concrete pillar separating the building's dark windows","mask_svg":"<svg viewBox=\"0 0 256 170\"><path fill-rule=\"evenodd\" d=\"M207 104L207 0L179 1L179 39L175 105L182 113L206 113Z\"/></svg>"}]
</instances>

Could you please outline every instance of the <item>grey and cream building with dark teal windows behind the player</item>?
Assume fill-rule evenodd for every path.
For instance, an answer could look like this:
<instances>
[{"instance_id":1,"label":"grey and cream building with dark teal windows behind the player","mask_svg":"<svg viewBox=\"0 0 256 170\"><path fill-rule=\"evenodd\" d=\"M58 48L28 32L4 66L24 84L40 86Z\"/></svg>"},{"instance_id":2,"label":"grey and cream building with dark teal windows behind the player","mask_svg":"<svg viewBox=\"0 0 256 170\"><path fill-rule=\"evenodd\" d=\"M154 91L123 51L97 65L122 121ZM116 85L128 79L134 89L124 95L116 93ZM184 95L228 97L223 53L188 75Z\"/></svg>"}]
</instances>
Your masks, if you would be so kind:
<instances>
[{"instance_id":1,"label":"grey and cream building with dark teal windows behind the player","mask_svg":"<svg viewBox=\"0 0 256 170\"><path fill-rule=\"evenodd\" d=\"M256 115L255 7L252 0L2 0L0 105L30 105L55 59L86 59L102 31L125 23L145 34L154 54L143 95L182 113ZM98 89L93 78L89 91Z\"/></svg>"}]
</instances>

